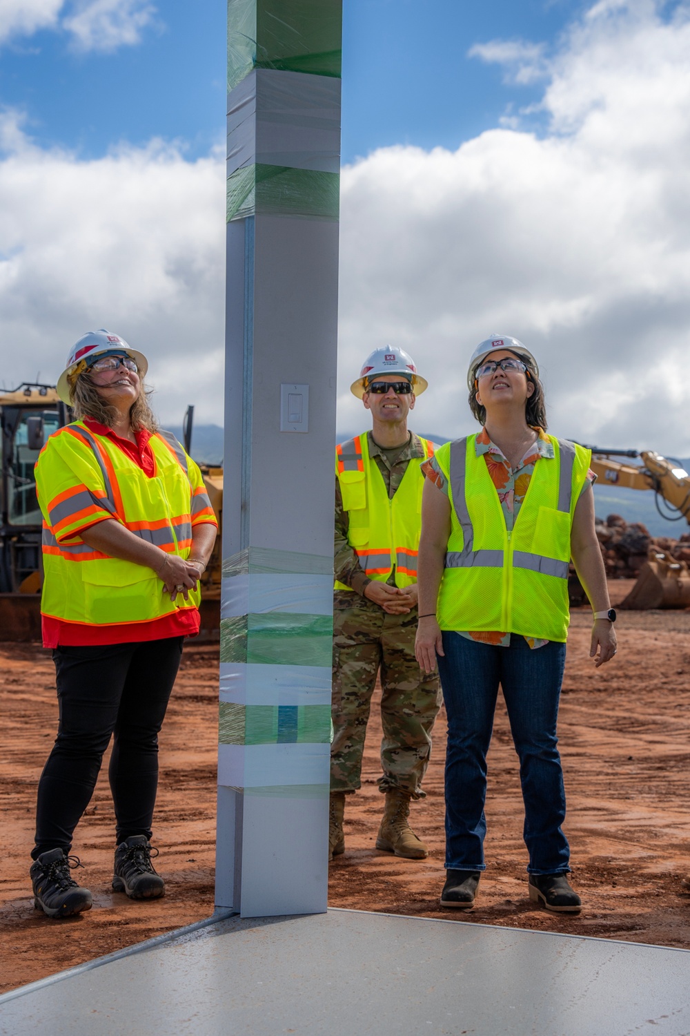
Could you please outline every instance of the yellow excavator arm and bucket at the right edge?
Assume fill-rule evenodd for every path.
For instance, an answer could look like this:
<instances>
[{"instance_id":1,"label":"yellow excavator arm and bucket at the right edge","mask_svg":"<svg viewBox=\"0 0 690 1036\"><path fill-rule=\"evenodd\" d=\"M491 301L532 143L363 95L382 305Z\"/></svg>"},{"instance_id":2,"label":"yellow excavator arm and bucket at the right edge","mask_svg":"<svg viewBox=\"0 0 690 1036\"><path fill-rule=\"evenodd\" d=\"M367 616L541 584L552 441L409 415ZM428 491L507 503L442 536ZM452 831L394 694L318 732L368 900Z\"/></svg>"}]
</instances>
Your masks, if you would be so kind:
<instances>
[{"instance_id":1,"label":"yellow excavator arm and bucket at the right edge","mask_svg":"<svg viewBox=\"0 0 690 1036\"><path fill-rule=\"evenodd\" d=\"M690 474L680 461L653 450L592 450L592 469L600 484L625 489L652 490L657 511L669 521L690 524ZM618 459L625 458L625 459ZM637 460L640 463L633 464ZM690 607L690 571L685 562L652 547L637 581L619 608Z\"/></svg>"}]
</instances>

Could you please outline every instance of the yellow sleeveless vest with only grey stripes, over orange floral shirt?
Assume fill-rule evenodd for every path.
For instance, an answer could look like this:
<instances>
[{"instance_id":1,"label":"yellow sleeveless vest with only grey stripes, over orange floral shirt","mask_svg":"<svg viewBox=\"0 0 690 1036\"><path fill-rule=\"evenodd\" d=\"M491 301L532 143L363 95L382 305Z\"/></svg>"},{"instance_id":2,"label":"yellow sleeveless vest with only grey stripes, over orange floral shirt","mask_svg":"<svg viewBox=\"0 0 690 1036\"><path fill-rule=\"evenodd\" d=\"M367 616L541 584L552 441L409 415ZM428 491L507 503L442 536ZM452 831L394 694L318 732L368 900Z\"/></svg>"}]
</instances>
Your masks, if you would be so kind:
<instances>
[{"instance_id":1,"label":"yellow sleeveless vest with only grey stripes, over orange floral shirt","mask_svg":"<svg viewBox=\"0 0 690 1036\"><path fill-rule=\"evenodd\" d=\"M549 435L512 531L476 435L437 450L448 481L451 533L437 614L442 630L501 631L565 641L575 506L592 452Z\"/></svg>"}]
</instances>

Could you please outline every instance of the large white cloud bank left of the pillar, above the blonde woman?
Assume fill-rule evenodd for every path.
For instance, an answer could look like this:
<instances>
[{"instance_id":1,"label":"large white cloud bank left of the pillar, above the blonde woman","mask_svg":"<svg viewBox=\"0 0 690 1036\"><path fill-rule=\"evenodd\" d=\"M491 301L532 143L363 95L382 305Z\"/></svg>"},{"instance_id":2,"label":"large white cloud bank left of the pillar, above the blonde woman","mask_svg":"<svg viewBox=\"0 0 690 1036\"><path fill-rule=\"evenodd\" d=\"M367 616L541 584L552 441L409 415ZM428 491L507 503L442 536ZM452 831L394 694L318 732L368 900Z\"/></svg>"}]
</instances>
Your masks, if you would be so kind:
<instances>
[{"instance_id":1,"label":"large white cloud bank left of the pillar, above the blonde woman","mask_svg":"<svg viewBox=\"0 0 690 1036\"><path fill-rule=\"evenodd\" d=\"M54 380L106 326L152 361L155 405L222 421L224 176L152 142L80 162L0 121L0 342L6 385Z\"/></svg>"}]
</instances>

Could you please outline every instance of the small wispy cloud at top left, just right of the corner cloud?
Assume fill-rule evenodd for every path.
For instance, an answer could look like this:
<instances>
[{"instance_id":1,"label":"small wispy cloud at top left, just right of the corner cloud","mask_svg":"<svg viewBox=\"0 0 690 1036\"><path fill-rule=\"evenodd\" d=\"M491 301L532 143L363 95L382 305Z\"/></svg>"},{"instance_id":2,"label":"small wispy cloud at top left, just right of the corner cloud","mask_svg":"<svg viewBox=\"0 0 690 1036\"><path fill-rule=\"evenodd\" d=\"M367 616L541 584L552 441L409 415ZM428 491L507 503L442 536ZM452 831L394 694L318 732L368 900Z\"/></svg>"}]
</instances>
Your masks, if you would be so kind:
<instances>
[{"instance_id":1,"label":"small wispy cloud at top left, just right of the corner cloud","mask_svg":"<svg viewBox=\"0 0 690 1036\"><path fill-rule=\"evenodd\" d=\"M81 50L110 52L140 42L155 12L147 0L79 0L62 25Z\"/></svg>"}]
</instances>

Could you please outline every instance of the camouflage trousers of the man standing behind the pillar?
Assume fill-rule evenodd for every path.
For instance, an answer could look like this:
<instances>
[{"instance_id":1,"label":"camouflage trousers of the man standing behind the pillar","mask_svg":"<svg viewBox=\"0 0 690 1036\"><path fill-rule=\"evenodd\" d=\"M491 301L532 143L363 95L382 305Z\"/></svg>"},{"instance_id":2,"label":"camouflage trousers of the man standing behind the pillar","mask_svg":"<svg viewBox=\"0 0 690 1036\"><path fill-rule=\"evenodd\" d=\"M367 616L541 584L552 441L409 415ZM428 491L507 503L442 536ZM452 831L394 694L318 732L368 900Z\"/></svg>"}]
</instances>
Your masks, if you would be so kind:
<instances>
[{"instance_id":1,"label":"camouflage trousers of the man standing behind the pillar","mask_svg":"<svg viewBox=\"0 0 690 1036\"><path fill-rule=\"evenodd\" d=\"M371 695L381 668L383 695L379 780L382 792L421 789L431 754L431 727L441 704L437 673L426 675L415 658L417 608L390 615L359 594L336 592L333 606L333 728L331 790L360 787Z\"/></svg>"}]
</instances>

